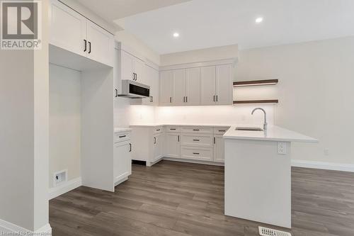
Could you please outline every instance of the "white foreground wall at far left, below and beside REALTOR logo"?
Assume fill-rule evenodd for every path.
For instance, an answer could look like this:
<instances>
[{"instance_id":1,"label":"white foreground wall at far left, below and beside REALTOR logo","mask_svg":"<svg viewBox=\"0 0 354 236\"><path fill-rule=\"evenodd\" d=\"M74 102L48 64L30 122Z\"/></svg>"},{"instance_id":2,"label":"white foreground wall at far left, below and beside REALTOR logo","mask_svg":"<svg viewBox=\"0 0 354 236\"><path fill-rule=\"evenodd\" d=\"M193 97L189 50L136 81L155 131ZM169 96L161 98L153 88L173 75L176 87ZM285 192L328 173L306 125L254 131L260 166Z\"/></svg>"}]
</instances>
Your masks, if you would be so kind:
<instances>
[{"instance_id":1,"label":"white foreground wall at far left, below and beside REALTOR logo","mask_svg":"<svg viewBox=\"0 0 354 236\"><path fill-rule=\"evenodd\" d=\"M0 228L48 224L47 1L42 50L0 51Z\"/></svg>"}]
</instances>

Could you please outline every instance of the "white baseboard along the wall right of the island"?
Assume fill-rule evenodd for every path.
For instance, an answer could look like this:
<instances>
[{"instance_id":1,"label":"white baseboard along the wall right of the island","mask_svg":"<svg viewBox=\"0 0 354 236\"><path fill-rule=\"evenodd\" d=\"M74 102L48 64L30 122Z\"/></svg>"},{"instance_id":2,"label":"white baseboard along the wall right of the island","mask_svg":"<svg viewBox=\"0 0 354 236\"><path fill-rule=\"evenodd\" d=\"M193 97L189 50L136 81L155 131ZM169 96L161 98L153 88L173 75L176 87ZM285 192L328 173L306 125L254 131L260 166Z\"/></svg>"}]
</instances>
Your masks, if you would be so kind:
<instances>
[{"instance_id":1,"label":"white baseboard along the wall right of the island","mask_svg":"<svg viewBox=\"0 0 354 236\"><path fill-rule=\"evenodd\" d=\"M332 162L313 162L313 161L304 161L301 159L292 159L292 167L304 167L304 168L313 168L313 169L329 169L336 170L341 172L354 172L354 164L340 164Z\"/></svg>"}]
</instances>

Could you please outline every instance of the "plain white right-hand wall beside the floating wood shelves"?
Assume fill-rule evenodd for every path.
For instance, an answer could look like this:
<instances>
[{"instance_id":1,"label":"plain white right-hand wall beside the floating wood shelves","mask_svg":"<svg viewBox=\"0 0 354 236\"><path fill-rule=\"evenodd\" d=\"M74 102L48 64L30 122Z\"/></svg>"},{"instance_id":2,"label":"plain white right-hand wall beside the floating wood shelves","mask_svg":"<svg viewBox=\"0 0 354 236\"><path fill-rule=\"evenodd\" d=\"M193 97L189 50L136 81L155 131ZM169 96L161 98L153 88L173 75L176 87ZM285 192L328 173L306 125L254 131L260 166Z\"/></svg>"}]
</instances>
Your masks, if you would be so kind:
<instances>
[{"instance_id":1,"label":"plain white right-hand wall beside the floating wood shelves","mask_svg":"<svg viewBox=\"0 0 354 236\"><path fill-rule=\"evenodd\" d=\"M275 124L319 139L294 159L354 164L353 62L354 37L241 50L236 78L280 79Z\"/></svg>"}]
</instances>

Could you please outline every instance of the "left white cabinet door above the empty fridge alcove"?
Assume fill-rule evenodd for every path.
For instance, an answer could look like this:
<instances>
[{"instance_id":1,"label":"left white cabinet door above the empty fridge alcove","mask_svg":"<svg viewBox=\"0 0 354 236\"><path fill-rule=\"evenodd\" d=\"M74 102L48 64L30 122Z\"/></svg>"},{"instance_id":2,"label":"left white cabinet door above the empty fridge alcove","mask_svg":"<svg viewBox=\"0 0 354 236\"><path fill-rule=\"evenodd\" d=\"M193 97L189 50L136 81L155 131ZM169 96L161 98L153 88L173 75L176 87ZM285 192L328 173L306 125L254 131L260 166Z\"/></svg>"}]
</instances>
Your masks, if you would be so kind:
<instances>
[{"instance_id":1,"label":"left white cabinet door above the empty fridge alcove","mask_svg":"<svg viewBox=\"0 0 354 236\"><path fill-rule=\"evenodd\" d=\"M64 50L85 55L86 18L60 3L52 1L50 6L50 44Z\"/></svg>"}]
</instances>

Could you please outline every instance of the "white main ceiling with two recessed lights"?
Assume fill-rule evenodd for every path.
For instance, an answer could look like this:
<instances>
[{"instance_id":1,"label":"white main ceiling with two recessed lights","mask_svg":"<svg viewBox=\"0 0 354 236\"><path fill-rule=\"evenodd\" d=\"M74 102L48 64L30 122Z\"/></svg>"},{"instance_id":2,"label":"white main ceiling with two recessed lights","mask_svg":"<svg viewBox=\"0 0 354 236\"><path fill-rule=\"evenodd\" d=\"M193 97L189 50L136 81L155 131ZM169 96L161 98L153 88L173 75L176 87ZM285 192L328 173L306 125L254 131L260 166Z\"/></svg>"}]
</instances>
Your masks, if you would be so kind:
<instances>
[{"instance_id":1,"label":"white main ceiling with two recessed lights","mask_svg":"<svg viewBox=\"0 0 354 236\"><path fill-rule=\"evenodd\" d=\"M354 0L193 0L124 21L160 54L236 43L245 49L354 35Z\"/></svg>"}]
</instances>

